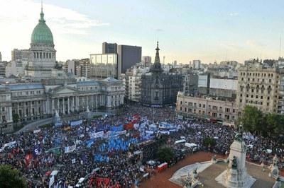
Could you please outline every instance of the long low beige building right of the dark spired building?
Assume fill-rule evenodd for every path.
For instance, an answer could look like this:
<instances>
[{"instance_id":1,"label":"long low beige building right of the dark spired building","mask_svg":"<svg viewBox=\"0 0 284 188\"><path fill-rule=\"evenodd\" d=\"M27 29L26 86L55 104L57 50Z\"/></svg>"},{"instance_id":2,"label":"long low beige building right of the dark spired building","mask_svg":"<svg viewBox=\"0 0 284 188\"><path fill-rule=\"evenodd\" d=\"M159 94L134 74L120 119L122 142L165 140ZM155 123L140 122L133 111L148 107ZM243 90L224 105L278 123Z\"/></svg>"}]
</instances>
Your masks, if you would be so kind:
<instances>
[{"instance_id":1,"label":"long low beige building right of the dark spired building","mask_svg":"<svg viewBox=\"0 0 284 188\"><path fill-rule=\"evenodd\" d=\"M185 117L216 119L224 122L235 122L238 118L238 109L234 101L195 98L182 92L177 96L176 112Z\"/></svg>"}]
</instances>

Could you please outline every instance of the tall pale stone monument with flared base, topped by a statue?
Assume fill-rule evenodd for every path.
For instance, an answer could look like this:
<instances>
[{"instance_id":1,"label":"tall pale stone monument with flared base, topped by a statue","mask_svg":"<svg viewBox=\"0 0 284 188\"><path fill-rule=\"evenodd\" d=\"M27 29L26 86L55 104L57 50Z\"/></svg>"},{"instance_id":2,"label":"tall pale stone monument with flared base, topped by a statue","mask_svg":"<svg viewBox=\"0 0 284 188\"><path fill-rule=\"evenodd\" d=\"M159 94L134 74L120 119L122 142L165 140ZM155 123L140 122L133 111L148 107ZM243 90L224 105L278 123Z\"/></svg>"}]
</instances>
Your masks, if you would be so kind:
<instances>
[{"instance_id":1,"label":"tall pale stone monument with flared base, topped by a statue","mask_svg":"<svg viewBox=\"0 0 284 188\"><path fill-rule=\"evenodd\" d=\"M239 132L230 146L229 165L215 180L224 187L249 188L256 181L246 172L246 143L243 140L243 131Z\"/></svg>"}]
</instances>

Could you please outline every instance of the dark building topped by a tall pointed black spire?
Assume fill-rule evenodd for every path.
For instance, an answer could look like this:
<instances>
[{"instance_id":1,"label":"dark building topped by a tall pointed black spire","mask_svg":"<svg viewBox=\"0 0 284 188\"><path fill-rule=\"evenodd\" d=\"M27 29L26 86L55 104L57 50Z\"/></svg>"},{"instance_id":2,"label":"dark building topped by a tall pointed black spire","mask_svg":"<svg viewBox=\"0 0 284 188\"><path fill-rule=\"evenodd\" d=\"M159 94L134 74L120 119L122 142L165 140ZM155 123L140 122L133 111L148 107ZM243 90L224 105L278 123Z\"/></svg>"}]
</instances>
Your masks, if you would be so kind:
<instances>
[{"instance_id":1,"label":"dark building topped by a tall pointed black spire","mask_svg":"<svg viewBox=\"0 0 284 188\"><path fill-rule=\"evenodd\" d=\"M150 72L141 77L141 103L159 106L174 104L178 91L183 89L182 75L163 72L158 42L155 50L155 62Z\"/></svg>"}]
</instances>

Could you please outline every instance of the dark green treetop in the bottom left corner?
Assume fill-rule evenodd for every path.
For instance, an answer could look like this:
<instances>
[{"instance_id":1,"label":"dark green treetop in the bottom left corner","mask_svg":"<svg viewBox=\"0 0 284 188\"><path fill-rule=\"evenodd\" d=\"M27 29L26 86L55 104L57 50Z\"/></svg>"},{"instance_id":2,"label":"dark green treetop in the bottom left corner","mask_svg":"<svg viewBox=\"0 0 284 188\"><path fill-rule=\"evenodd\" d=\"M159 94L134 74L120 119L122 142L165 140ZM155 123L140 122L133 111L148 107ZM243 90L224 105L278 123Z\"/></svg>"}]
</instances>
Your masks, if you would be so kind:
<instances>
[{"instance_id":1,"label":"dark green treetop in the bottom left corner","mask_svg":"<svg viewBox=\"0 0 284 188\"><path fill-rule=\"evenodd\" d=\"M11 165L0 165L0 187L27 187L26 181L21 177L20 172L12 169Z\"/></svg>"}]
</instances>

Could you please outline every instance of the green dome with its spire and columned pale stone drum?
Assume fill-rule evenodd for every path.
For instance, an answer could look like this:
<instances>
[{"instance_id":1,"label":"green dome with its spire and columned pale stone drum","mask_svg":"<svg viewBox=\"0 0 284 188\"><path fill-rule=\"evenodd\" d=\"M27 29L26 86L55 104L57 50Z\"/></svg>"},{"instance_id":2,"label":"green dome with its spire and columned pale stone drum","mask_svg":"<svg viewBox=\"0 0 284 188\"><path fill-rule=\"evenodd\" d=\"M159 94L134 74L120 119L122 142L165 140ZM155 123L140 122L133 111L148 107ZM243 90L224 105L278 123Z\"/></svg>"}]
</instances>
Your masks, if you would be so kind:
<instances>
[{"instance_id":1,"label":"green dome with its spire and columned pale stone drum","mask_svg":"<svg viewBox=\"0 0 284 188\"><path fill-rule=\"evenodd\" d=\"M27 76L35 78L50 78L56 71L56 50L54 49L53 33L45 23L43 7L38 25L31 35L31 48L28 55Z\"/></svg>"}]
</instances>

